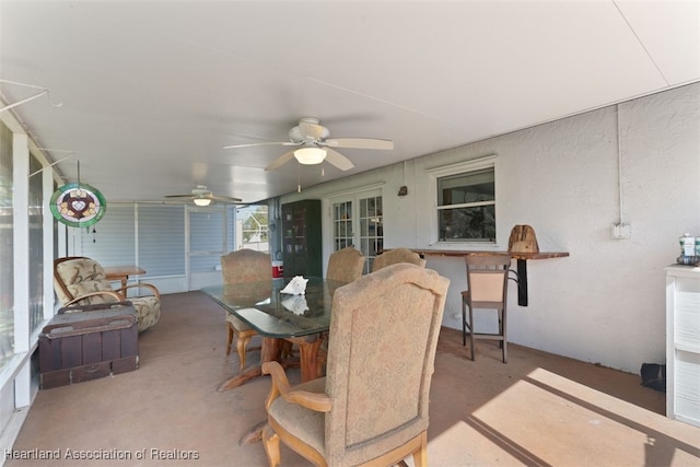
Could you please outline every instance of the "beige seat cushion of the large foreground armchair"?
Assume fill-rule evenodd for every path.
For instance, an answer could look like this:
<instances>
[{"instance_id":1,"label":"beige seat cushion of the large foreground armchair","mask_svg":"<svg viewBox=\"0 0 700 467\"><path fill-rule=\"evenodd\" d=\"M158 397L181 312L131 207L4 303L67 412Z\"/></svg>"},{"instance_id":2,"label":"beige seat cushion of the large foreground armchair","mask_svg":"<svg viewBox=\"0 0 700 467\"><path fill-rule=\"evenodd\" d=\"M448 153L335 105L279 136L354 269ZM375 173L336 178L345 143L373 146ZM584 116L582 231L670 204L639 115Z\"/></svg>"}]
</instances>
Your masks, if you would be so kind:
<instances>
[{"instance_id":1,"label":"beige seat cushion of the large foreground armchair","mask_svg":"<svg viewBox=\"0 0 700 467\"><path fill-rule=\"evenodd\" d=\"M319 377L294 386L292 389L323 393L325 387L326 378ZM278 397L268 409L268 416L277 420L293 436L319 453L325 452L325 413L289 404L283 397Z\"/></svg>"}]
</instances>

